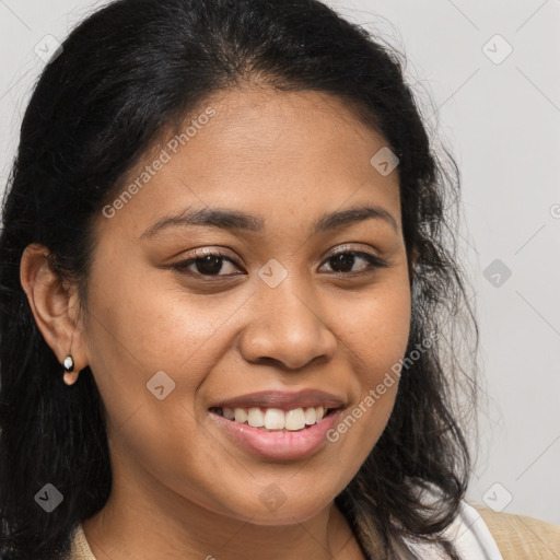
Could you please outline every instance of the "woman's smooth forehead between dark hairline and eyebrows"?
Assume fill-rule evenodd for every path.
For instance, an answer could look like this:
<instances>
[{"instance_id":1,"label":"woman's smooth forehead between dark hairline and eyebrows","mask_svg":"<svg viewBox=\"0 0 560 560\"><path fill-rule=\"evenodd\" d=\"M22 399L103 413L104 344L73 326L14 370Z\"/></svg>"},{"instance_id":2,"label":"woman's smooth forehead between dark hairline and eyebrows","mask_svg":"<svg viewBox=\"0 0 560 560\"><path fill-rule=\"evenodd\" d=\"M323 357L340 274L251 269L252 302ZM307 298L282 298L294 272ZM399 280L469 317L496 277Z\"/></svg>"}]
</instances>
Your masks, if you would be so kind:
<instances>
[{"instance_id":1,"label":"woman's smooth forehead between dark hairline and eyebrows","mask_svg":"<svg viewBox=\"0 0 560 560\"><path fill-rule=\"evenodd\" d=\"M136 228L139 237L172 211L235 206L269 215L266 228L278 215L311 222L359 202L393 210L399 226L398 170L384 175L372 164L386 149L343 101L323 92L220 92L167 128L131 170L115 197L136 184L133 199L119 205L112 226Z\"/></svg>"}]
</instances>

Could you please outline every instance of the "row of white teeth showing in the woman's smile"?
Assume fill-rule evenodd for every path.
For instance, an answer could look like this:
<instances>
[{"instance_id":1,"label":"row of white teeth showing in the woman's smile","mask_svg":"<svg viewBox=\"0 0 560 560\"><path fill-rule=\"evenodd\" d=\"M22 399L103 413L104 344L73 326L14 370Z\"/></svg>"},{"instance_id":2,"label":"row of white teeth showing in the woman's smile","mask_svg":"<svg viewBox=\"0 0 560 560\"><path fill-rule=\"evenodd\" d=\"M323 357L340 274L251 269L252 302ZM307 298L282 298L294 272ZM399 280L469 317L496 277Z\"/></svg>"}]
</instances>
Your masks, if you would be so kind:
<instances>
[{"instance_id":1,"label":"row of white teeth showing in the woman's smile","mask_svg":"<svg viewBox=\"0 0 560 560\"><path fill-rule=\"evenodd\" d=\"M338 408L300 407L291 410L280 408L226 408L212 407L210 412L232 422L247 424L264 432L298 432L319 423Z\"/></svg>"}]
</instances>

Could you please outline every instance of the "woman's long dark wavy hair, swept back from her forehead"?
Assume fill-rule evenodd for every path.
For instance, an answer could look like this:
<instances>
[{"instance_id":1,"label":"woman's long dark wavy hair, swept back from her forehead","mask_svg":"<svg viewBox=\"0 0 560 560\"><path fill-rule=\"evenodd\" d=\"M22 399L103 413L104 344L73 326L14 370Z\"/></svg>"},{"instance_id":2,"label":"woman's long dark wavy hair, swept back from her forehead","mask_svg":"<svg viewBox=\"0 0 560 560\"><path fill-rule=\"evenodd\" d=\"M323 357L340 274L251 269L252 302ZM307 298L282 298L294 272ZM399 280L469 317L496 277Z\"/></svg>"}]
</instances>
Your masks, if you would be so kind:
<instances>
[{"instance_id":1,"label":"woman's long dark wavy hair, swept back from her forehead","mask_svg":"<svg viewBox=\"0 0 560 560\"><path fill-rule=\"evenodd\" d=\"M339 97L400 160L412 290L407 354L429 336L433 343L402 368L388 424L336 503L372 558L393 558L395 546L409 550L407 541L418 541L457 559L440 533L457 514L469 480L464 410L455 397L466 387L467 401L475 402L476 363L468 372L460 366L452 334L464 317L478 346L478 328L450 228L459 174L429 139L405 83L402 56L318 0L118 0L74 28L62 48L28 103L3 201L3 558L63 557L77 524L104 506L112 487L105 410L93 375L86 368L74 385L63 384L20 282L22 252L31 243L48 247L60 278L77 282L85 305L92 223L120 194L126 173L165 127L210 94L258 82ZM48 514L35 500L46 483L63 495ZM428 503L422 489L435 490L438 501Z\"/></svg>"}]
</instances>

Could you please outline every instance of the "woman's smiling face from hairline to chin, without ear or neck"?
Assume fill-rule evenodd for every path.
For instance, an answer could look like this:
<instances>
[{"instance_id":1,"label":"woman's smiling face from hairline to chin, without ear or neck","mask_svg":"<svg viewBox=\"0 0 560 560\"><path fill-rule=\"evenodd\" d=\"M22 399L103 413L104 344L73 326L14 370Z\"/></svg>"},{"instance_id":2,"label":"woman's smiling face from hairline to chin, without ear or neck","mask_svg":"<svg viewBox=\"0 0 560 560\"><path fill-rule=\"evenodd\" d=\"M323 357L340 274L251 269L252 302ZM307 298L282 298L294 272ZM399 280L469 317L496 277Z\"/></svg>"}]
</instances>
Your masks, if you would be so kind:
<instances>
[{"instance_id":1,"label":"woman's smiling face from hairline to chin, without ear or neck","mask_svg":"<svg viewBox=\"0 0 560 560\"><path fill-rule=\"evenodd\" d=\"M397 383L366 397L409 335L398 168L372 165L386 141L315 92L222 93L180 132L95 226L83 335L114 488L261 525L304 521L350 482L395 401ZM336 219L365 207L377 212ZM218 209L250 219L167 221ZM343 408L294 429L322 402ZM261 404L291 428L252 429L217 413L228 404Z\"/></svg>"}]
</instances>

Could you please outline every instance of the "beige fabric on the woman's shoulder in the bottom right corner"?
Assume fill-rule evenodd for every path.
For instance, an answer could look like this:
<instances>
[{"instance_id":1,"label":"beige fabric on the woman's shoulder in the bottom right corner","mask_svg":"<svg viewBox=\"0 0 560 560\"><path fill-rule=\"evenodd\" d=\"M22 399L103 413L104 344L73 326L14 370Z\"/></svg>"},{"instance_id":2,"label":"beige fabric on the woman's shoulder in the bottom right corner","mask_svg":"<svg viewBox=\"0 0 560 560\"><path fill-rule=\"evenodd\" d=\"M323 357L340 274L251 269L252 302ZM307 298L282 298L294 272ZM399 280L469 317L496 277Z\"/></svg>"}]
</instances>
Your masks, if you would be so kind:
<instances>
[{"instance_id":1,"label":"beige fabric on the woman's shoulder in the bottom right corner","mask_svg":"<svg viewBox=\"0 0 560 560\"><path fill-rule=\"evenodd\" d=\"M503 560L560 559L560 526L480 504L471 506L482 517Z\"/></svg>"}]
</instances>

